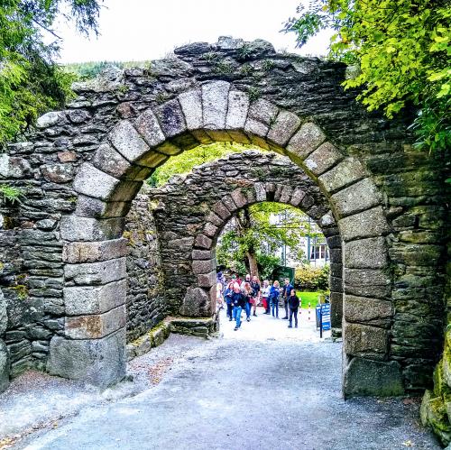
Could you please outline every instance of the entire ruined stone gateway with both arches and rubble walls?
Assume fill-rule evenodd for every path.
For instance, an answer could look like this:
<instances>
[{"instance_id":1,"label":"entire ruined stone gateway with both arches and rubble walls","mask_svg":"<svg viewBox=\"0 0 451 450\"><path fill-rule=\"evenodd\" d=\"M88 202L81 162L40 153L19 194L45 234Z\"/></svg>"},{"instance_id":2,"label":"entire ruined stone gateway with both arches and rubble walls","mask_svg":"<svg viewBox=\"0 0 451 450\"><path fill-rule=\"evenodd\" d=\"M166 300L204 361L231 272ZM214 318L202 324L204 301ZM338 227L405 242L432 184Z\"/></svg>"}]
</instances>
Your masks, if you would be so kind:
<instances>
[{"instance_id":1,"label":"entire ruined stone gateway with both arches and rubble walls","mask_svg":"<svg viewBox=\"0 0 451 450\"><path fill-rule=\"evenodd\" d=\"M350 72L220 38L77 83L0 155L2 181L23 190L0 209L0 390L29 368L106 387L124 378L127 339L165 317L215 322L217 236L262 201L299 207L327 237L345 397L430 387L446 324L443 168L412 148L408 120L344 91ZM266 152L142 190L211 142Z\"/></svg>"}]
</instances>

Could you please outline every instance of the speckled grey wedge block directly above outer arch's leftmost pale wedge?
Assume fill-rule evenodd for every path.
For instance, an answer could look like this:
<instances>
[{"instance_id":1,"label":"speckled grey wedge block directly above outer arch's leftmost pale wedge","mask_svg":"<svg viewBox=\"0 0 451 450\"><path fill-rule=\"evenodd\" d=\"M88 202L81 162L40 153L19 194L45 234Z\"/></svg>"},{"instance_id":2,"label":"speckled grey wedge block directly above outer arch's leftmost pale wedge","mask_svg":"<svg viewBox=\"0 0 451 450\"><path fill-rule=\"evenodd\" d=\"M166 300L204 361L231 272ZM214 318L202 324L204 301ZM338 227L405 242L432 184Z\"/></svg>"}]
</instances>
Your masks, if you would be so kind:
<instances>
[{"instance_id":1,"label":"speckled grey wedge block directly above outer arch's leftmost pale wedge","mask_svg":"<svg viewBox=\"0 0 451 450\"><path fill-rule=\"evenodd\" d=\"M149 178L151 172L148 167L131 164L107 143L103 143L98 147L92 159L92 164L98 170L102 170L108 175L115 177L115 179L143 181L143 179Z\"/></svg>"}]
</instances>

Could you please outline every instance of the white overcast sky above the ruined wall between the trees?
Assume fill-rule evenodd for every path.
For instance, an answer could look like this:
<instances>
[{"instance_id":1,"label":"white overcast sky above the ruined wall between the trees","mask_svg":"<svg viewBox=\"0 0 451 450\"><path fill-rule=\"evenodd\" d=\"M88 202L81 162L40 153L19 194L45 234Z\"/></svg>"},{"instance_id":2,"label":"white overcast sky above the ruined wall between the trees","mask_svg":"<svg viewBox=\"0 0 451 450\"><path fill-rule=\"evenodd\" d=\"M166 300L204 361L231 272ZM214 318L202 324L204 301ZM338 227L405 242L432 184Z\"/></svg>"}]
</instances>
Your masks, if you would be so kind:
<instances>
[{"instance_id":1,"label":"white overcast sky above the ruined wall between the trees","mask_svg":"<svg viewBox=\"0 0 451 450\"><path fill-rule=\"evenodd\" d=\"M105 0L98 38L79 35L73 24L60 23L60 62L155 60L188 42L216 42L222 35L270 41L276 50L324 55L330 32L322 32L302 50L295 34L281 33L296 15L299 0Z\"/></svg>"}]
</instances>

